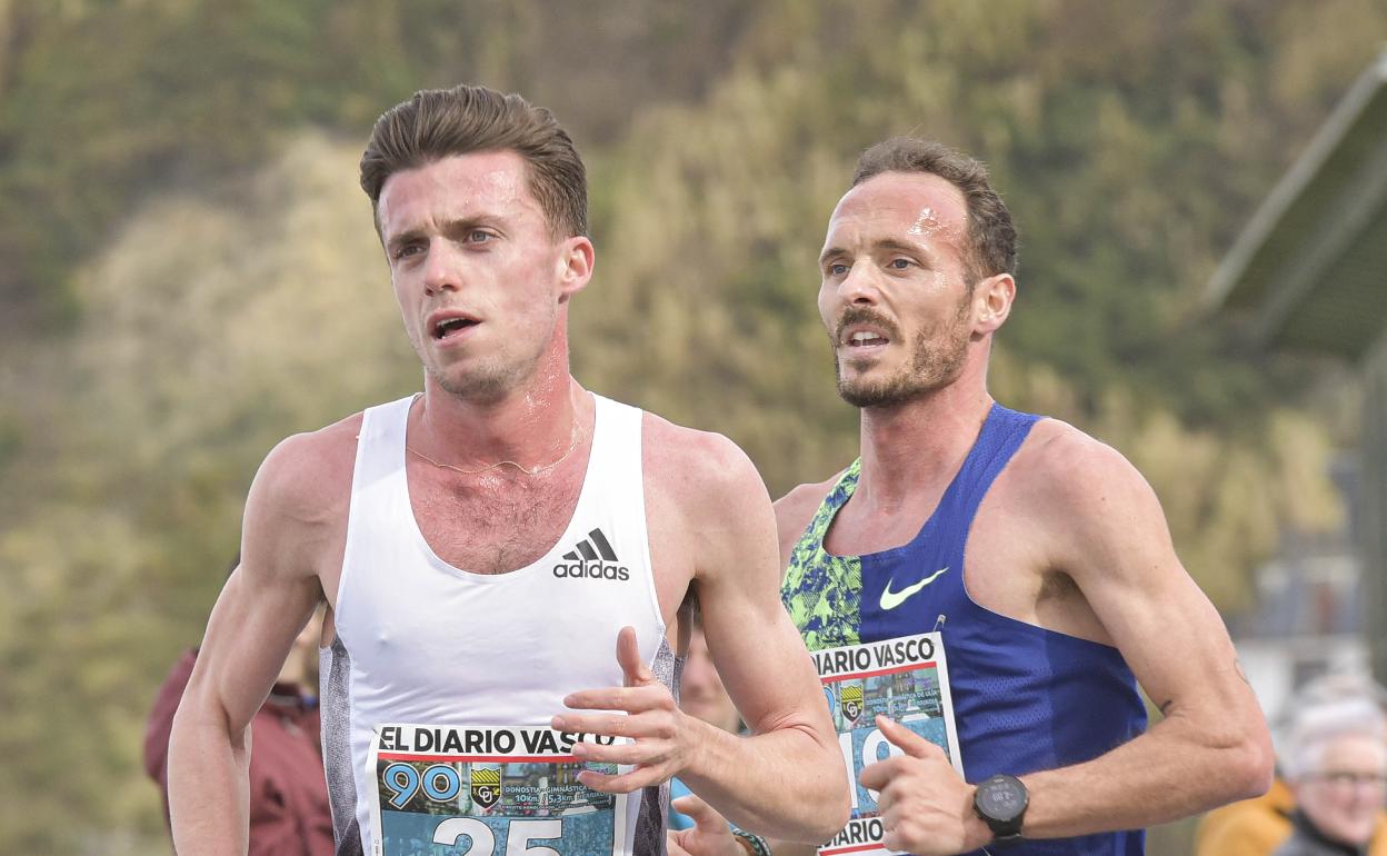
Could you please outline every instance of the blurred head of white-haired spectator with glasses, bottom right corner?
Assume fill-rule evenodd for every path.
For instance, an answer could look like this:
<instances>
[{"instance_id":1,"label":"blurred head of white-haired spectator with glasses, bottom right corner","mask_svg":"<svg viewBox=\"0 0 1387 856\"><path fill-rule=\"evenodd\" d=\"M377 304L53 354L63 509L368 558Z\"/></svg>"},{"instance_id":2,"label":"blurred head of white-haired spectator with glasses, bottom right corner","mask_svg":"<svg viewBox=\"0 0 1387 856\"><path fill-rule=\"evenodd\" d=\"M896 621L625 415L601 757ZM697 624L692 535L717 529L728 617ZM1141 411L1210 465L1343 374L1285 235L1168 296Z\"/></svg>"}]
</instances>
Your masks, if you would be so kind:
<instances>
[{"instance_id":1,"label":"blurred head of white-haired spectator with glasses, bottom right corner","mask_svg":"<svg viewBox=\"0 0 1387 856\"><path fill-rule=\"evenodd\" d=\"M1290 737L1291 837L1273 856L1365 856L1387 795L1387 723L1369 699L1312 708Z\"/></svg>"}]
</instances>

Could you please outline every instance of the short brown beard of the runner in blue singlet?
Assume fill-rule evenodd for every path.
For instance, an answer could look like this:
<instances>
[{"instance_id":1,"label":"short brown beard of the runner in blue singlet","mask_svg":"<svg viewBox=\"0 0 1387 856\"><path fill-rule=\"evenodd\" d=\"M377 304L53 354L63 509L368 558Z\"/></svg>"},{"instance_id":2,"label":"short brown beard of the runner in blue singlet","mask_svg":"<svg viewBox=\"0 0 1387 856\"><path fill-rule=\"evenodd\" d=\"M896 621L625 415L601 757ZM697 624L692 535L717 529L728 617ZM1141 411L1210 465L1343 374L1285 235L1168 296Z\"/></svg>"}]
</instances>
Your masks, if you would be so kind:
<instances>
[{"instance_id":1,"label":"short brown beard of the runner in blue singlet","mask_svg":"<svg viewBox=\"0 0 1387 856\"><path fill-rule=\"evenodd\" d=\"M963 375L968 358L970 336L965 323L968 305L970 300L965 298L954 318L946 322L945 329L921 330L911 344L907 363L879 380L845 379L835 343L834 375L838 380L838 395L856 408L890 408L917 401L951 384Z\"/></svg>"}]
</instances>

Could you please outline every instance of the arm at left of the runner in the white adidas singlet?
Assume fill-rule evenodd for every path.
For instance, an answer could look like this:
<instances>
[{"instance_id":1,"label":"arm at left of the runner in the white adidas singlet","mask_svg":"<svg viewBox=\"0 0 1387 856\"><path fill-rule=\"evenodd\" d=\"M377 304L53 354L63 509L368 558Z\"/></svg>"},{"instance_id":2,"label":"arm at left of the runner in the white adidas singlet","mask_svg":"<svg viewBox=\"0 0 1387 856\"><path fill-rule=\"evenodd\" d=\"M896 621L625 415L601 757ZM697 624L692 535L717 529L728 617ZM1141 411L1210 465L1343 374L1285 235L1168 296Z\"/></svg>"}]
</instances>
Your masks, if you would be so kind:
<instances>
[{"instance_id":1,"label":"arm at left of the runner in the white adidas singlet","mask_svg":"<svg viewBox=\"0 0 1387 856\"><path fill-rule=\"evenodd\" d=\"M280 444L245 502L241 565L207 626L169 739L169 809L182 855L245 853L250 723L322 598L312 552L313 440Z\"/></svg>"}]
</instances>

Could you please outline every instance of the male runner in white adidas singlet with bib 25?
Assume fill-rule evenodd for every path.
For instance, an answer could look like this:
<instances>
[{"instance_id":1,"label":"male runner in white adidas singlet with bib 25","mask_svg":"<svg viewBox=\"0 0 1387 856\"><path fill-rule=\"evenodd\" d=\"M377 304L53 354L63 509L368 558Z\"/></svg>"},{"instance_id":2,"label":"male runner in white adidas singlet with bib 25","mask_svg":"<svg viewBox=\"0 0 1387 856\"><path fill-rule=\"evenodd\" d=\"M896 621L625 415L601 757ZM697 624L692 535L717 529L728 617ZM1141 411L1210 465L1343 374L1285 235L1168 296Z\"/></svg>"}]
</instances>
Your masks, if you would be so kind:
<instances>
[{"instance_id":1,"label":"male runner in white adidas singlet with bib 25","mask_svg":"<svg viewBox=\"0 0 1387 856\"><path fill-rule=\"evenodd\" d=\"M173 726L179 853L245 852L248 723L322 599L338 853L660 853L675 774L748 830L827 839L846 776L760 477L569 375L594 262L569 136L519 96L422 92L361 179L423 393L255 477ZM691 594L752 737L671 696Z\"/></svg>"}]
</instances>

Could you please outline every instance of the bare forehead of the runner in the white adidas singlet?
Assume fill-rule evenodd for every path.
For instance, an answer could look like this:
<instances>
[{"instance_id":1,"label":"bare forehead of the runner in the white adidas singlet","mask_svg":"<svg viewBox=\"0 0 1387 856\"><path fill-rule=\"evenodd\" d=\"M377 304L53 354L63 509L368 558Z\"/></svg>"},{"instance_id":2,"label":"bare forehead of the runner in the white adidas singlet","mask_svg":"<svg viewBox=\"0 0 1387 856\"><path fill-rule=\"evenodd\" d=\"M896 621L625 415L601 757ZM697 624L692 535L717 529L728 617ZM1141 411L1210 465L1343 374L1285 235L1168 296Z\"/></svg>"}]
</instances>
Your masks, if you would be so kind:
<instances>
[{"instance_id":1,"label":"bare forehead of the runner in the white adidas singlet","mask_svg":"<svg viewBox=\"0 0 1387 856\"><path fill-rule=\"evenodd\" d=\"M484 151L402 169L380 190L381 232L479 216L542 216L530 193L526 164L513 151Z\"/></svg>"}]
</instances>

